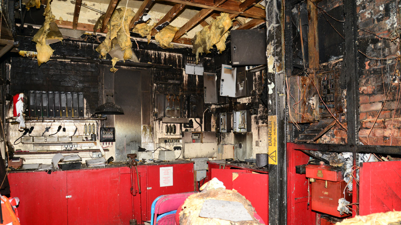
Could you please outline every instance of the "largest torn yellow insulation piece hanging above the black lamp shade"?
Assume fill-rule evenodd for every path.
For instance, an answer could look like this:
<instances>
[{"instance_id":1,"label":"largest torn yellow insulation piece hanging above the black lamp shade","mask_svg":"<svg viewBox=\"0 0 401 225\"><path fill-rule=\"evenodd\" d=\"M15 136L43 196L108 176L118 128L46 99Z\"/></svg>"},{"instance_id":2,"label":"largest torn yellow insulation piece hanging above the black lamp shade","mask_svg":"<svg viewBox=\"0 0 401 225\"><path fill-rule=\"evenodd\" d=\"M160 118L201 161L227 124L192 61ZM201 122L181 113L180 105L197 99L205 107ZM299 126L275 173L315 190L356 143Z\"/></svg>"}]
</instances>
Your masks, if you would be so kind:
<instances>
[{"instance_id":1,"label":"largest torn yellow insulation piece hanging above the black lamp shade","mask_svg":"<svg viewBox=\"0 0 401 225\"><path fill-rule=\"evenodd\" d=\"M119 60L132 59L132 42L130 38L129 26L134 15L135 13L132 9L125 7L118 8L113 12L110 21L107 24L106 38L96 48L96 51L100 53L100 58L105 58L106 54L113 50L115 44L118 43L122 51L124 51L124 59ZM100 26L96 24L94 30L96 28L100 28ZM114 66L110 69L110 71L114 72L113 70L115 71Z\"/></svg>"}]
</instances>

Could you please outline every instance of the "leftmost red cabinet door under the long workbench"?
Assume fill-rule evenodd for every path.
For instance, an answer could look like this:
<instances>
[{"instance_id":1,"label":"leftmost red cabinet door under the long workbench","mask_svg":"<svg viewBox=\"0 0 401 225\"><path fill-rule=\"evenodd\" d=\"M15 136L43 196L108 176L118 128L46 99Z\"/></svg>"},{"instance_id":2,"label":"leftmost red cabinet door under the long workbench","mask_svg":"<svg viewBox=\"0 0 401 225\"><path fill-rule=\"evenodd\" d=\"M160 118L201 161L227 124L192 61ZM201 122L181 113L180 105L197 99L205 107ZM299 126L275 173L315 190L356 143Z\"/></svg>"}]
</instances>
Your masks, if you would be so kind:
<instances>
[{"instance_id":1,"label":"leftmost red cabinet door under the long workbench","mask_svg":"<svg viewBox=\"0 0 401 225\"><path fill-rule=\"evenodd\" d=\"M18 214L24 225L67 225L65 171L9 173L11 197L18 197Z\"/></svg>"}]
</instances>

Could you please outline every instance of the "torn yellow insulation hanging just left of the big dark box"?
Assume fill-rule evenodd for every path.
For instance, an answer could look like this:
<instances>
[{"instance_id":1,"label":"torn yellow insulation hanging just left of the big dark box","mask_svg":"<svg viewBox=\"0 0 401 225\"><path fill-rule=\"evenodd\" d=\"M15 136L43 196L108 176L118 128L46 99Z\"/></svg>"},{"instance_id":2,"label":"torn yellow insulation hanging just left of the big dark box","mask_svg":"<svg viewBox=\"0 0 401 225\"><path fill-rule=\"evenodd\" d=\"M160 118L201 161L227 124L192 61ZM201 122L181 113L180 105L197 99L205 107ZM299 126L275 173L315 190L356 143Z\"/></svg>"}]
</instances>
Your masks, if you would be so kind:
<instances>
[{"instance_id":1,"label":"torn yellow insulation hanging just left of the big dark box","mask_svg":"<svg viewBox=\"0 0 401 225\"><path fill-rule=\"evenodd\" d=\"M209 26L205 26L201 31L196 32L194 38L192 38L192 53L196 54L196 61L199 58L199 54L203 52L210 53L209 50L217 43L219 44L216 47L220 52L225 50L225 39L228 36L228 34L225 34L231 26L233 26L233 23L229 14L221 13Z\"/></svg>"}]
</instances>

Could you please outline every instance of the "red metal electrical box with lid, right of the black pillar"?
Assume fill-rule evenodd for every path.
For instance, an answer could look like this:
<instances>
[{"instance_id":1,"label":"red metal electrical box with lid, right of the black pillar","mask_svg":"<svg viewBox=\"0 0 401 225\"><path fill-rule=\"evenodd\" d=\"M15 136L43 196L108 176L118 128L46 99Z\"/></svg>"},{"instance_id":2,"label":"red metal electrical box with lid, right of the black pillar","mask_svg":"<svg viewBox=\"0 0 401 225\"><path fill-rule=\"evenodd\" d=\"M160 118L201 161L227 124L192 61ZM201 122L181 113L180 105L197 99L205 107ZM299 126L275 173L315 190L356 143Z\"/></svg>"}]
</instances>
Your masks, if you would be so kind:
<instances>
[{"instance_id":1,"label":"red metal electrical box with lid, right of the black pillar","mask_svg":"<svg viewBox=\"0 0 401 225\"><path fill-rule=\"evenodd\" d=\"M307 165L306 177L310 178L312 210L335 217L348 217L349 214L340 215L338 200L344 198L347 183L343 180L342 170L330 165ZM352 194L345 191L345 199L352 202Z\"/></svg>"}]
</instances>

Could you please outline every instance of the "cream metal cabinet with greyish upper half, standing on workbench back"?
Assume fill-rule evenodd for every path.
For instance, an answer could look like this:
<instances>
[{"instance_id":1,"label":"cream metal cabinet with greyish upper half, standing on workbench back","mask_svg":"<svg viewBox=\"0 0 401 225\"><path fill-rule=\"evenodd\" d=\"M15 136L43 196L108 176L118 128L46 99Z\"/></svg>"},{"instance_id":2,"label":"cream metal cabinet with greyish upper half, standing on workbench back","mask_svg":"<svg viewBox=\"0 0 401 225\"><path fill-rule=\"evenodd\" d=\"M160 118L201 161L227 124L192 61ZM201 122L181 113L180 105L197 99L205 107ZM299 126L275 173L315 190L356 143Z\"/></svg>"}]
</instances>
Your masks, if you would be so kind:
<instances>
[{"instance_id":1,"label":"cream metal cabinet with greyish upper half, standing on workbench back","mask_svg":"<svg viewBox=\"0 0 401 225\"><path fill-rule=\"evenodd\" d=\"M199 132L182 132L182 158L193 159L217 157L216 132L201 132L201 141L198 140L198 135Z\"/></svg>"}]
</instances>

